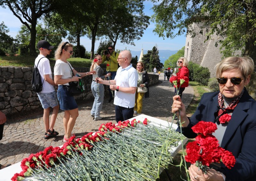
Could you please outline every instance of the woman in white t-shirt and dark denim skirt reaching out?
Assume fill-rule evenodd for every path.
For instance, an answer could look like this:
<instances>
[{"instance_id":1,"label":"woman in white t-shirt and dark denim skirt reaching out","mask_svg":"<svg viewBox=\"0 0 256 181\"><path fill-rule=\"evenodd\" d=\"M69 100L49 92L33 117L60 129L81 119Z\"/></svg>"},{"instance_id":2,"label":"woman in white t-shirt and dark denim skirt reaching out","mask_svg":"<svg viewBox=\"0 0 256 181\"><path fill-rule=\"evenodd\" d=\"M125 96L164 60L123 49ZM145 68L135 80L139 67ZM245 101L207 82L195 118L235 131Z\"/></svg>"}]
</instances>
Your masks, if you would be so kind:
<instances>
[{"instance_id":1,"label":"woman in white t-shirt and dark denim skirt reaching out","mask_svg":"<svg viewBox=\"0 0 256 181\"><path fill-rule=\"evenodd\" d=\"M72 76L73 74L76 75L76 73L78 73L81 77L93 74L93 71L77 72L67 61L72 53L73 45L68 42L61 42L55 51L56 63L54 66L54 82L55 84L58 84L57 97L60 102L60 109L65 111L63 118L65 130L63 138L64 142L69 140L76 118L78 117L76 100L68 92L69 82L76 82L79 80L80 77Z\"/></svg>"}]
</instances>

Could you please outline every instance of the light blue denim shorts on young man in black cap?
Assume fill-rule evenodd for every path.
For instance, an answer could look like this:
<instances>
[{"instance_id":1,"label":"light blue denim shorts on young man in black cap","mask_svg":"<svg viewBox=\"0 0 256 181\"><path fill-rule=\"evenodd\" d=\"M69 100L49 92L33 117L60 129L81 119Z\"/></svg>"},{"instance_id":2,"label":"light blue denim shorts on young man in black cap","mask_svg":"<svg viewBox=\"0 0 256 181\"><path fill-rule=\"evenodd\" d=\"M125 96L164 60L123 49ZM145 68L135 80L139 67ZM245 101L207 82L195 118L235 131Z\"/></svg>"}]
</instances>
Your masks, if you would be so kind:
<instances>
[{"instance_id":1,"label":"light blue denim shorts on young man in black cap","mask_svg":"<svg viewBox=\"0 0 256 181\"><path fill-rule=\"evenodd\" d=\"M38 92L37 96L38 96L44 109L47 109L48 107L55 107L59 104L58 99L57 99L57 94L55 91L50 92L50 93Z\"/></svg>"}]
</instances>

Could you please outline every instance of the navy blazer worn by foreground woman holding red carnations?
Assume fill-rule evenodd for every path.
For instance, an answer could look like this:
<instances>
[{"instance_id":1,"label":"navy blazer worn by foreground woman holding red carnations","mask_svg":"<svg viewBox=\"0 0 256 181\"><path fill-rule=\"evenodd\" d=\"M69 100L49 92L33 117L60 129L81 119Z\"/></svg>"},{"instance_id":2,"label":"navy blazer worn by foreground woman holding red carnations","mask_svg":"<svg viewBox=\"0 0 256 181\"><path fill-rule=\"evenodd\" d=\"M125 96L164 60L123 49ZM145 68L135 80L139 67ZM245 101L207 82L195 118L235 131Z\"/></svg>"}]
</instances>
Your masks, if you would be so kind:
<instances>
[{"instance_id":1,"label":"navy blazer worn by foreground woman holding red carnations","mask_svg":"<svg viewBox=\"0 0 256 181\"><path fill-rule=\"evenodd\" d=\"M182 133L188 138L195 138L191 127L198 121L215 122L214 112L218 106L218 92L203 94L196 112L189 118L189 125L182 128ZM180 132L180 127L176 131ZM226 176L226 181L256 180L256 101L244 91L240 98L221 142L221 147L232 152L236 164L232 169L221 163L220 172Z\"/></svg>"}]
</instances>

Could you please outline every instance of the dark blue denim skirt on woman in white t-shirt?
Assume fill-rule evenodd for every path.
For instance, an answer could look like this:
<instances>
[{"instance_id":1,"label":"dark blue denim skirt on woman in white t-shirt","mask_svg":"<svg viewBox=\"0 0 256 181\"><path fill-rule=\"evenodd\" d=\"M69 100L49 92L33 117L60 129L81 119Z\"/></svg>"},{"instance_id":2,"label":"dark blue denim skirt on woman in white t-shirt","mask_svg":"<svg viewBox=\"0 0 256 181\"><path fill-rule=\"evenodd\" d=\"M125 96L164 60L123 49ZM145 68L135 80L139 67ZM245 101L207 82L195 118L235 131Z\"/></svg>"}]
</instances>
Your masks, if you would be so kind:
<instances>
[{"instance_id":1,"label":"dark blue denim skirt on woman in white t-shirt","mask_svg":"<svg viewBox=\"0 0 256 181\"><path fill-rule=\"evenodd\" d=\"M69 94L68 87L69 86L67 85L59 85L57 91L60 109L64 111L76 109L78 107L75 98Z\"/></svg>"}]
</instances>

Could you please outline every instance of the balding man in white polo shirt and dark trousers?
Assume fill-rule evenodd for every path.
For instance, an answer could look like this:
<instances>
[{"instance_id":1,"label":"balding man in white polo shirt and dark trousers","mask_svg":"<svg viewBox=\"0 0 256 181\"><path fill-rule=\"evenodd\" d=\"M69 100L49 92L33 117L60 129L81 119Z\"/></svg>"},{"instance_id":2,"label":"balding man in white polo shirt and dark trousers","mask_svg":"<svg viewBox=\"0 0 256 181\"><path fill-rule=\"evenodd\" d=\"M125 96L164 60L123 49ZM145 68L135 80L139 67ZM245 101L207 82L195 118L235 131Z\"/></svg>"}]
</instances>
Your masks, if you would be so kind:
<instances>
[{"instance_id":1,"label":"balding man in white polo shirt and dark trousers","mask_svg":"<svg viewBox=\"0 0 256 181\"><path fill-rule=\"evenodd\" d=\"M135 104L135 92L137 90L138 73L131 64L132 54L128 50L120 52L117 62L120 67L116 71L114 80L102 80L96 78L98 83L109 85L115 91L116 122L124 121L133 117Z\"/></svg>"}]
</instances>

